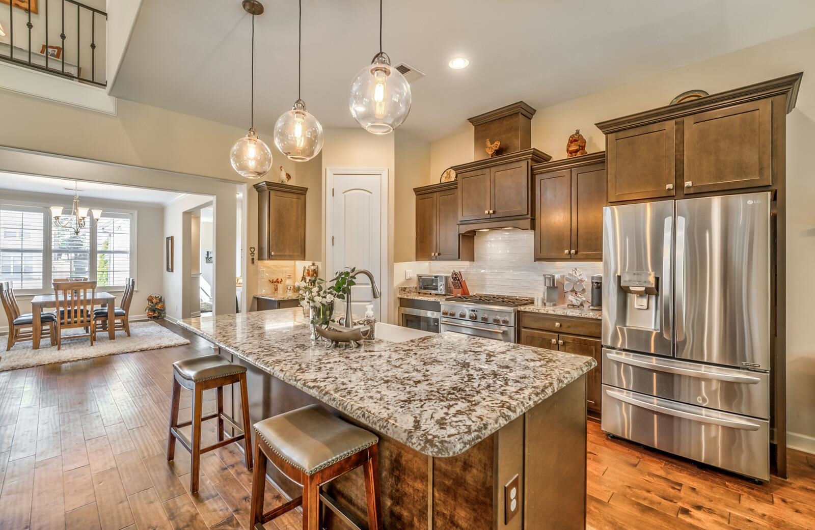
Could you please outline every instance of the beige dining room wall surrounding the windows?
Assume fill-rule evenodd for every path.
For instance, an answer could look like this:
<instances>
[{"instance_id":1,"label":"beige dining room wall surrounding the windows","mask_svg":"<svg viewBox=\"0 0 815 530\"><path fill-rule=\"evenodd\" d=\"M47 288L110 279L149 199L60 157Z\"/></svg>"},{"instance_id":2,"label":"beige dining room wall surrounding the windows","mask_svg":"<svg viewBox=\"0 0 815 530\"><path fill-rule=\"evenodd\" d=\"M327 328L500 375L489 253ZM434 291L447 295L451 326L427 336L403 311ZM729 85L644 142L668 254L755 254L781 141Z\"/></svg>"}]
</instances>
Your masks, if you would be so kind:
<instances>
[{"instance_id":1,"label":"beige dining room wall surrounding the windows","mask_svg":"<svg viewBox=\"0 0 815 530\"><path fill-rule=\"evenodd\" d=\"M0 183L0 186L2 186L2 183ZM15 204L18 202L22 204L63 204L70 209L71 197L67 195L22 193L19 191L0 189L0 203ZM136 246L131 252L134 252L136 259L135 270L132 271L132 274L134 274L136 278L136 293L134 295L133 305L130 309L130 318L143 318L144 306L147 304L147 296L154 292L161 292L163 289L163 278L161 275L163 261L161 261L161 257L156 258L156 256L164 256L164 250L161 239L156 238L155 234L161 234L161 230L164 228L164 208L156 204L128 203L105 199L93 199L93 205L107 212L122 210L135 212ZM53 294L51 287L46 287L45 292L48 291ZM121 292L115 292L114 294L119 296L119 300L121 300ZM31 312L32 297L33 295L17 296L17 300L20 302L21 312ZM0 313L0 331L5 332L7 327L6 313Z\"/></svg>"}]
</instances>

